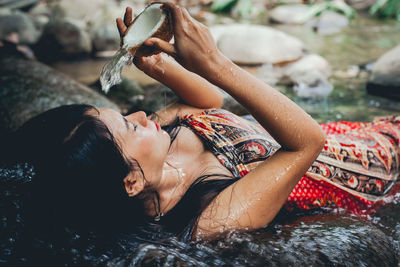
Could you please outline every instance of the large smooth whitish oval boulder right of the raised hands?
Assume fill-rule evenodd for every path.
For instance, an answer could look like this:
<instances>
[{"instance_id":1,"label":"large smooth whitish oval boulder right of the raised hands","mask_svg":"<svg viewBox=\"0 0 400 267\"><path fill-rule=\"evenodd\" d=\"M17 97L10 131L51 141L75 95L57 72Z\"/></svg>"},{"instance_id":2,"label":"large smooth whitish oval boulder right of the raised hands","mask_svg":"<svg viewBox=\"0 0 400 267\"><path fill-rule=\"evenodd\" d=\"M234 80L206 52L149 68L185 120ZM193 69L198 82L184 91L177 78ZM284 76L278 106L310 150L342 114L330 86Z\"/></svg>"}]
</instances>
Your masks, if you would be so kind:
<instances>
[{"instance_id":1,"label":"large smooth whitish oval boulder right of the raised hands","mask_svg":"<svg viewBox=\"0 0 400 267\"><path fill-rule=\"evenodd\" d=\"M210 28L221 52L238 64L279 64L299 59L304 44L271 27L232 24Z\"/></svg>"}]
</instances>

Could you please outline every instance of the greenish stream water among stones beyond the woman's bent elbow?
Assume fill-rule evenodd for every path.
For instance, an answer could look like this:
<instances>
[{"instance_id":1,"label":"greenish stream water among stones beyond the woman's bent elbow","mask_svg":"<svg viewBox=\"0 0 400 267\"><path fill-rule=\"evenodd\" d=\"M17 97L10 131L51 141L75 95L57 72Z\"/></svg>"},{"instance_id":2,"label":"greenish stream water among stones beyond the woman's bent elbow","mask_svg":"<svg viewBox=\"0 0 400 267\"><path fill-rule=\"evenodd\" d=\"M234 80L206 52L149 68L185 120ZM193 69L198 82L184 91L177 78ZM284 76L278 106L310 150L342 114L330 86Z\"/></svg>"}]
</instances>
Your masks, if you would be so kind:
<instances>
[{"instance_id":1,"label":"greenish stream water among stones beyond the woman's bent elbow","mask_svg":"<svg viewBox=\"0 0 400 267\"><path fill-rule=\"evenodd\" d=\"M324 57L332 67L332 93L323 99L296 96L282 88L297 104L319 122L370 121L376 116L400 114L400 103L366 92L373 62L400 44L400 22L359 15L340 33L320 35L311 28L277 25L303 41L310 53Z\"/></svg>"}]
</instances>

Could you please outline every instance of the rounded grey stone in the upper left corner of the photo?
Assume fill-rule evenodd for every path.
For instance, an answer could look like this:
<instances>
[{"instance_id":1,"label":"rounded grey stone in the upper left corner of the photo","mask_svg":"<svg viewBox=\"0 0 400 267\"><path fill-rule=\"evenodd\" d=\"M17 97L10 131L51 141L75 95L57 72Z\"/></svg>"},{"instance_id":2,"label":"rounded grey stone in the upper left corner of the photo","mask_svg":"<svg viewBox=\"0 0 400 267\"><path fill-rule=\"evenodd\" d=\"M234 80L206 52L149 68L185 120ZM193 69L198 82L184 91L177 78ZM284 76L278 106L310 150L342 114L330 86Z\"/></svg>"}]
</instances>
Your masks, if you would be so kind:
<instances>
[{"instance_id":1,"label":"rounded grey stone in the upper left corner of the photo","mask_svg":"<svg viewBox=\"0 0 400 267\"><path fill-rule=\"evenodd\" d=\"M0 16L0 39L5 39L12 33L18 35L21 44L34 44L40 37L34 21L21 12Z\"/></svg>"}]
</instances>

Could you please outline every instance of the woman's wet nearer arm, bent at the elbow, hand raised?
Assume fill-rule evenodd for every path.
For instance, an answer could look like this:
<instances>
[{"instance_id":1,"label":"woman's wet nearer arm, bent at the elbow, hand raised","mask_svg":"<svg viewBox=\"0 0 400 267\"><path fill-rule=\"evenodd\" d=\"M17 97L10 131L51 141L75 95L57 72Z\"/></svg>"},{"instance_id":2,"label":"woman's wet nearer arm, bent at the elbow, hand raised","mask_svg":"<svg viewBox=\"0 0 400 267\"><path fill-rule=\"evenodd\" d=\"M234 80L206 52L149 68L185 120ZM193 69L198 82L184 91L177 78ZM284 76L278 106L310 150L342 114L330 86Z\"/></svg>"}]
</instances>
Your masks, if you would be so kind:
<instances>
[{"instance_id":1,"label":"woman's wet nearer arm, bent at the elbow, hand raised","mask_svg":"<svg viewBox=\"0 0 400 267\"><path fill-rule=\"evenodd\" d=\"M173 12L175 44L149 41L231 94L282 146L211 202L198 220L195 235L207 237L226 230L263 227L275 217L318 156L325 136L294 102L223 56L208 29L185 9L166 5Z\"/></svg>"}]
</instances>

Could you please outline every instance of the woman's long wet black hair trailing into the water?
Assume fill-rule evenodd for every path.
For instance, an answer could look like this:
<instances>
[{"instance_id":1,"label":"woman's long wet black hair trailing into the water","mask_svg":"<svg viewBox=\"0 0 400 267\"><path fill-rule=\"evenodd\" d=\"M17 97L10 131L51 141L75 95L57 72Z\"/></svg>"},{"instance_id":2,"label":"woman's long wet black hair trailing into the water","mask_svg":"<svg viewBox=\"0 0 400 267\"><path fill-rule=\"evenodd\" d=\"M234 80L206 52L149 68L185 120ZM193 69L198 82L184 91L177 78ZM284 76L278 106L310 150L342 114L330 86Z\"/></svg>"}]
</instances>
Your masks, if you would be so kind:
<instances>
[{"instance_id":1,"label":"woman's long wet black hair trailing into the water","mask_svg":"<svg viewBox=\"0 0 400 267\"><path fill-rule=\"evenodd\" d=\"M88 114L91 110L96 111L89 105L58 107L29 120L14 135L17 158L33 164L36 171L28 210L42 228L62 224L129 230L152 221L124 189L123 179L132 169L141 171L140 166L123 156L106 125ZM179 129L179 119L166 128L171 143ZM238 179L208 179L212 176L221 178L199 177L161 220L168 231L190 239L201 212Z\"/></svg>"}]
</instances>

